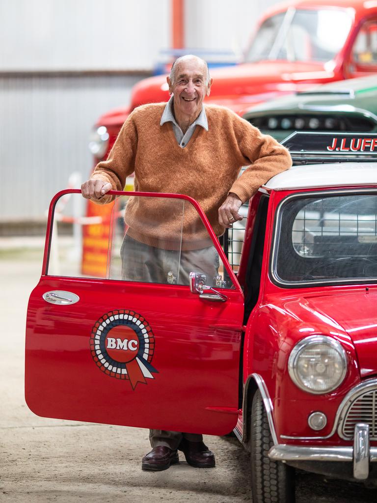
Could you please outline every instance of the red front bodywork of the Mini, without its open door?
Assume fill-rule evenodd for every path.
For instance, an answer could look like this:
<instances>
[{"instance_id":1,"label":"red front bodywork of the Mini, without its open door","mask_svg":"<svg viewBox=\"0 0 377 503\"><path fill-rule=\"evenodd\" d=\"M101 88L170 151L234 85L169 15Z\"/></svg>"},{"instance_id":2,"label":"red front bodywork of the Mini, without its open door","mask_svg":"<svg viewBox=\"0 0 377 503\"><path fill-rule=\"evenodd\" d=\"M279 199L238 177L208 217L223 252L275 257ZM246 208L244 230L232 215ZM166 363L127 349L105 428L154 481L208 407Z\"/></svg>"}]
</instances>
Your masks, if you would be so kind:
<instances>
[{"instance_id":1,"label":"red front bodywork of the Mini, without its open door","mask_svg":"<svg viewBox=\"0 0 377 503\"><path fill-rule=\"evenodd\" d=\"M343 166L337 166L339 176ZM373 166L375 169L376 164ZM360 383L360 379L377 376L374 349L377 341L377 281L372 280L367 287L342 284L285 289L272 281L269 270L268 250L273 247L274 218L281 202L294 194L317 193L320 196L321 193L341 193L347 190L340 186L322 186L321 191L318 191L317 184L313 183L314 179L310 178L310 172L315 172L320 167L323 166L294 167L290 172L286 172L286 181L281 180L276 184L273 179L271 181L270 185L277 190L268 190L269 209L261 268L261 289L247 322L243 379L245 385L250 376L257 374L263 381L271 400L271 420L279 443L308 445L310 439L311 445L342 446L352 444L352 441L344 441L336 433L334 422L339 419L338 407L347 393ZM372 165L369 165L368 169L371 167ZM307 187L301 190L278 190L278 187L290 186L291 175L294 175L296 169L308 170ZM357 174L354 173L354 177L356 178ZM355 188L354 181L351 192ZM360 186L357 188L360 190ZM374 183L374 191L376 188ZM242 284L242 279L240 281ZM369 295L371 296L368 297ZM288 359L292 348L301 339L312 334L324 334L340 341L348 361L347 374L342 384L332 392L322 395L299 389L288 373ZM289 410L294 413L288 413ZM316 410L324 412L328 419L326 427L320 432L314 432L308 426L308 417ZM237 423L240 436L243 435L245 413L243 411L243 417L240 416ZM371 445L376 443L372 442Z\"/></svg>"}]
</instances>

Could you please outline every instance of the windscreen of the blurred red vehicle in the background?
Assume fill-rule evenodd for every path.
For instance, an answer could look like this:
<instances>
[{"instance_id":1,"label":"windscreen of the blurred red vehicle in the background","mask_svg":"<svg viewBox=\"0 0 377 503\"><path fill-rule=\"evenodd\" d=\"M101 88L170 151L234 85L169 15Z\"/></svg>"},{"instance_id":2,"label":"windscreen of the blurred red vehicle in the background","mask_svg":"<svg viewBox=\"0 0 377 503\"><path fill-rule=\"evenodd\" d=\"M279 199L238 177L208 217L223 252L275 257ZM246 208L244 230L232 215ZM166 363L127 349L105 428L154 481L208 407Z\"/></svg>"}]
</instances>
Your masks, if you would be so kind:
<instances>
[{"instance_id":1,"label":"windscreen of the blurred red vehicle in the background","mask_svg":"<svg viewBox=\"0 0 377 503\"><path fill-rule=\"evenodd\" d=\"M343 47L351 16L342 9L289 9L260 26L246 61L329 61Z\"/></svg>"}]
</instances>

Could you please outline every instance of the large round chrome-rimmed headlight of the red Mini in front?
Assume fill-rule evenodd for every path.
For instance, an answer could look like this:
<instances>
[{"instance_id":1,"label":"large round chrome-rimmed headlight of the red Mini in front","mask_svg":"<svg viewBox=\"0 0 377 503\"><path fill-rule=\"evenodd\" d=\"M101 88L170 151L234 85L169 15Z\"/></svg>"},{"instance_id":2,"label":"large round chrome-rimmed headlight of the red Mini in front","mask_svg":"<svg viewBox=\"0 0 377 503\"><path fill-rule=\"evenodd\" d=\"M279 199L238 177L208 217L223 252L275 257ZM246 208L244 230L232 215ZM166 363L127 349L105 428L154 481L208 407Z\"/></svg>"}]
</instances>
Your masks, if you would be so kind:
<instances>
[{"instance_id":1,"label":"large round chrome-rimmed headlight of the red Mini in front","mask_svg":"<svg viewBox=\"0 0 377 503\"><path fill-rule=\"evenodd\" d=\"M347 371L342 345L327 336L310 336L291 351L288 370L293 382L309 393L328 393L337 388Z\"/></svg>"}]
</instances>

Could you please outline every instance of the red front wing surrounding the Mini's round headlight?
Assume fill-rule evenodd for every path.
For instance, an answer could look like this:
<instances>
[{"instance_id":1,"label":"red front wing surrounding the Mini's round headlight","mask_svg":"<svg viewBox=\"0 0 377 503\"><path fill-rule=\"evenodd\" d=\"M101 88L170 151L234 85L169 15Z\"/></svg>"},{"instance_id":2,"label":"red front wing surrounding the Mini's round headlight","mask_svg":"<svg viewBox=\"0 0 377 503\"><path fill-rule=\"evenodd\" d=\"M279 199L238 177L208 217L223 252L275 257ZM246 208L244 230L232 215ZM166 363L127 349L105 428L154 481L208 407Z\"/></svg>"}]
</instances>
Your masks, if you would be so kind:
<instances>
[{"instance_id":1,"label":"red front wing surrounding the Mini's round headlight","mask_svg":"<svg viewBox=\"0 0 377 503\"><path fill-rule=\"evenodd\" d=\"M311 289L313 290L313 289ZM310 292L315 295L313 291ZM291 299L293 292L290 291ZM359 382L359 369L353 345L350 345L348 334L338 329L336 338L346 344L348 361L350 362L347 376L342 386L336 392L325 395L314 395L300 390L291 380L288 373L288 359L293 346L308 334L325 334L334 337L333 323L327 324L313 315L307 319L308 312L301 308L303 315L297 314L300 300L282 298L281 294L266 295L255 312L255 316L247 332L247 349L252 352L252 360L245 362L244 378L257 373L263 379L268 390L272 408L273 421L278 441L281 443L300 444L300 439L284 439L289 437L323 437L333 429L336 411L349 389ZM301 298L304 302L304 298ZM294 304L294 305L292 305ZM268 344L266 344L268 341ZM250 355L251 356L251 355ZM313 432L308 426L308 416L315 410L327 415L328 423L320 432ZM291 413L288 413L291 411ZM331 436L325 439L328 445L342 445L344 441ZM316 442L314 438L313 442Z\"/></svg>"}]
</instances>

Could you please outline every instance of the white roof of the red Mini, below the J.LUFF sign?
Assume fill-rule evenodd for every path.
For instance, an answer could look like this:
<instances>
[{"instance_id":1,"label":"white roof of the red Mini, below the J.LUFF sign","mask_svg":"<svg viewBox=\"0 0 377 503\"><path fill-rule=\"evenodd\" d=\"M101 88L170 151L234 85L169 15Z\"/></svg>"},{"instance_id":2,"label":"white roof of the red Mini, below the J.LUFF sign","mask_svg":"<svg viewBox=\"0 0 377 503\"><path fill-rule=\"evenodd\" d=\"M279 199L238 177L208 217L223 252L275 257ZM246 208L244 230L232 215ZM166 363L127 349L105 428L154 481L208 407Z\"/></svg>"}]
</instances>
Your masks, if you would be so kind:
<instances>
[{"instance_id":1,"label":"white roof of the red Mini, below the J.LUFF sign","mask_svg":"<svg viewBox=\"0 0 377 503\"><path fill-rule=\"evenodd\" d=\"M263 185L266 189L310 189L347 185L375 185L377 162L337 162L293 166L272 177Z\"/></svg>"}]
</instances>

